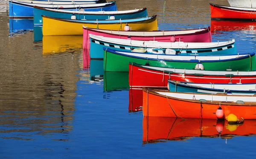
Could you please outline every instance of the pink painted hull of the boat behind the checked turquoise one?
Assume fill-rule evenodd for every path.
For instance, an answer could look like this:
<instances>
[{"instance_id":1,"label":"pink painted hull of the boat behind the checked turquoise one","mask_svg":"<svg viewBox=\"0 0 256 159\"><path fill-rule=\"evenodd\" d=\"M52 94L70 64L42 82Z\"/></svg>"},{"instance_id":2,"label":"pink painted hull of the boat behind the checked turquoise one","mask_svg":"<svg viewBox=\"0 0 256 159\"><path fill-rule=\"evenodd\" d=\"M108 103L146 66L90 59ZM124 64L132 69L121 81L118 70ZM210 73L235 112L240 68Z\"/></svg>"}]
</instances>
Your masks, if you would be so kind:
<instances>
[{"instance_id":1,"label":"pink painted hull of the boat behind the checked turquoise one","mask_svg":"<svg viewBox=\"0 0 256 159\"><path fill-rule=\"evenodd\" d=\"M194 29L195 30L195 29ZM180 30L181 31L181 30ZM122 34L111 34L111 33L105 33L102 31L96 31L88 28L83 29L83 47L89 49L90 48L90 37L89 34L93 35L99 35L103 37L113 37L113 38L119 38L119 39L127 39L128 35ZM154 32L166 32L166 31L153 31ZM181 42L186 42L186 43L210 43L212 42L212 36L211 36L211 31L210 27L206 29L202 29L201 31L197 31L195 33L188 33L188 34L179 34L177 31L173 34L166 35L166 33L163 33L162 36L157 36L157 35L152 35L152 36L136 36L136 35L130 35L130 38L132 40L145 40L145 41L150 41L150 40L156 40L159 42L171 42L171 37L175 37L175 41L181 41ZM135 33L136 34L136 33Z\"/></svg>"}]
</instances>

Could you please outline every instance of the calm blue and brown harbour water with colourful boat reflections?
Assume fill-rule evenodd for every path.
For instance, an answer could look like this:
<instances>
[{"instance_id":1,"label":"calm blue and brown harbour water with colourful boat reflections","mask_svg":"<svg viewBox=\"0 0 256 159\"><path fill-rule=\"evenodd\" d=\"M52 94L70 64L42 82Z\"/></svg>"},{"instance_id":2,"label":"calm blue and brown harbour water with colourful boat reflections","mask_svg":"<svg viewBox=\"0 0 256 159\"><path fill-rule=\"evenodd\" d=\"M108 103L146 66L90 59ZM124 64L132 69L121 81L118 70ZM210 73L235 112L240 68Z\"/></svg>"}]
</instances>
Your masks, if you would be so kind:
<instances>
[{"instance_id":1,"label":"calm blue and brown harbour water with colourful boat reflections","mask_svg":"<svg viewBox=\"0 0 256 159\"><path fill-rule=\"evenodd\" d=\"M118 10L147 7L161 30L211 26L213 42L255 51L256 23L210 20L209 2L227 0L116 2ZM36 42L31 21L9 20L5 0L0 11L0 158L255 157L256 121L143 118L130 107L128 74L104 74L82 36Z\"/></svg>"}]
</instances>

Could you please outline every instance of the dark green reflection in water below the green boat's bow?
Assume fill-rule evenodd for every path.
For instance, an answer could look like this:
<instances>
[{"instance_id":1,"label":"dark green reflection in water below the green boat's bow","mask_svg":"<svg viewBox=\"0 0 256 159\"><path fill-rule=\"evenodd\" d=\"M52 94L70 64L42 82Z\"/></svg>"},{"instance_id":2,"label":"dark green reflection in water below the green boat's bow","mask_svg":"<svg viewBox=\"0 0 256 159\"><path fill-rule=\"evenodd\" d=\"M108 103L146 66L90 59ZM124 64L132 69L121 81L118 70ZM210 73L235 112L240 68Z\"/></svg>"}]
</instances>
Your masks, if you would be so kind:
<instances>
[{"instance_id":1,"label":"dark green reflection in water below the green boat's bow","mask_svg":"<svg viewBox=\"0 0 256 159\"><path fill-rule=\"evenodd\" d=\"M129 88L129 72L105 71L103 79L104 91L128 90Z\"/></svg>"}]
</instances>

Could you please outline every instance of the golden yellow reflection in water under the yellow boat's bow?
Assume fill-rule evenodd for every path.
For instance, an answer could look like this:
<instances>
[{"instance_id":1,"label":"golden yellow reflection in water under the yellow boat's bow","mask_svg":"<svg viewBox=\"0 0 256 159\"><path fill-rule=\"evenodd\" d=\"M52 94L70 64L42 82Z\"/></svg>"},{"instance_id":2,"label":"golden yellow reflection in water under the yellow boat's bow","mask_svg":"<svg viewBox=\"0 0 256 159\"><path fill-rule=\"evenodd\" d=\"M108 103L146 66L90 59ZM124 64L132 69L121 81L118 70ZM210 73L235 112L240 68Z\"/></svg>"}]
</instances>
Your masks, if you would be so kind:
<instances>
[{"instance_id":1,"label":"golden yellow reflection in water under the yellow boat's bow","mask_svg":"<svg viewBox=\"0 0 256 159\"><path fill-rule=\"evenodd\" d=\"M83 36L43 36L43 54L73 53L83 48Z\"/></svg>"}]
</instances>

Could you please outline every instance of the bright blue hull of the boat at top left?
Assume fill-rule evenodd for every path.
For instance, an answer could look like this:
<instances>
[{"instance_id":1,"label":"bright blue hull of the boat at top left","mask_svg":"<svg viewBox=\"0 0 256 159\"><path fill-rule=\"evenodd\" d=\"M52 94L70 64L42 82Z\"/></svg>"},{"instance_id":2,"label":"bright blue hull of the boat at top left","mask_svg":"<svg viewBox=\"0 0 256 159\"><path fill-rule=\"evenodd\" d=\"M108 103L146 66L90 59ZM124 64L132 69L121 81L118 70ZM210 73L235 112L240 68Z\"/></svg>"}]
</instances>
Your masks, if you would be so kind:
<instances>
[{"instance_id":1,"label":"bright blue hull of the boat at top left","mask_svg":"<svg viewBox=\"0 0 256 159\"><path fill-rule=\"evenodd\" d=\"M83 4L84 5L84 4ZM46 5L44 5L46 6ZM79 10L84 9L84 11L116 11L116 3L111 3L110 5L107 6L102 6L102 7L86 7L86 4L84 6L80 6L77 5L74 6L70 6L69 8L65 7L65 8L61 8L61 6L55 5L55 7L53 7L52 5L47 5L49 7L45 7L45 8L49 8L49 9L65 9L65 10ZM67 5L63 5L63 6L67 6ZM18 3L18 2L14 2L14 1L9 1L9 17L10 18L33 18L34 15L34 5L30 5L29 3Z\"/></svg>"}]
</instances>

